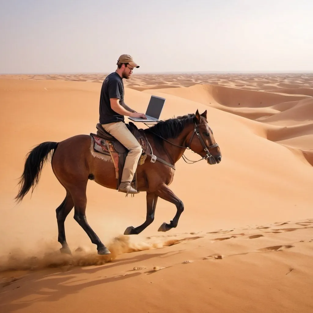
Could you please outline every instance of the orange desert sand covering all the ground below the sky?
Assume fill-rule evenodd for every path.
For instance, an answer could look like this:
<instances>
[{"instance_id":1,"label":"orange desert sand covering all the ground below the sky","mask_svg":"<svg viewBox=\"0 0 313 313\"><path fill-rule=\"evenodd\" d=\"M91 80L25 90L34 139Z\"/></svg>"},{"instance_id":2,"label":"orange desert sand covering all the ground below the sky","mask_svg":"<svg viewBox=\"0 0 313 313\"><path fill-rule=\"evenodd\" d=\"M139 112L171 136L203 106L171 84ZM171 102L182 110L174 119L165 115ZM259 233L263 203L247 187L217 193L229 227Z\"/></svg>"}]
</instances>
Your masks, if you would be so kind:
<instances>
[{"instance_id":1,"label":"orange desert sand covering all the ground below the sky","mask_svg":"<svg viewBox=\"0 0 313 313\"><path fill-rule=\"evenodd\" d=\"M177 162L170 188L185 210L166 233L174 205L158 200L154 222L125 236L145 220L145 192L90 181L86 216L111 254L73 211L73 254L60 254L65 192L51 164L21 204L18 178L39 143L96 132L105 75L0 76L0 311L312 312L313 74L133 74L125 102L137 111L151 94L167 99L162 120L207 110L222 162Z\"/></svg>"}]
</instances>

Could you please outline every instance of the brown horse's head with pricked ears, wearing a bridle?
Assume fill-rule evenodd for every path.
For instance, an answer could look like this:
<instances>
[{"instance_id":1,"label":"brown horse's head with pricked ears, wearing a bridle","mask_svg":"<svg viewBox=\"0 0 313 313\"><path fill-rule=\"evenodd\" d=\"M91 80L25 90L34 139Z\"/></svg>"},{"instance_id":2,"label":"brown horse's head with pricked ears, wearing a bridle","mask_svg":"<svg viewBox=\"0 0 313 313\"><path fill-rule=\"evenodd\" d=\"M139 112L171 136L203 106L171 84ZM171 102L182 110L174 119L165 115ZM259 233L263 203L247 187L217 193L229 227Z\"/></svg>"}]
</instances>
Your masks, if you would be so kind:
<instances>
[{"instance_id":1,"label":"brown horse's head with pricked ears, wearing a bridle","mask_svg":"<svg viewBox=\"0 0 313 313\"><path fill-rule=\"evenodd\" d=\"M208 164L218 164L222 155L216 143L213 131L208 125L207 110L199 114L197 110L193 119L193 130L186 138L187 147L205 158Z\"/></svg>"}]
</instances>

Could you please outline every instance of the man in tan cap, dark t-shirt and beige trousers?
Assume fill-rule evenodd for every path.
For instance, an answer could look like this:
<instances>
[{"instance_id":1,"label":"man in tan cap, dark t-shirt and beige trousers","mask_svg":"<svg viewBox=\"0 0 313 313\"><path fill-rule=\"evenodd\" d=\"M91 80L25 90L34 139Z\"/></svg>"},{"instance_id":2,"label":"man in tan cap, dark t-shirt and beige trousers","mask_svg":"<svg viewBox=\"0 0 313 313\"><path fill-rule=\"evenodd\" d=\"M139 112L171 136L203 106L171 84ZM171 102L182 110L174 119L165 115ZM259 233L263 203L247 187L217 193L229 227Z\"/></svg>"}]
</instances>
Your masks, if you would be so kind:
<instances>
[{"instance_id":1,"label":"man in tan cap, dark t-shirt and beige trousers","mask_svg":"<svg viewBox=\"0 0 313 313\"><path fill-rule=\"evenodd\" d=\"M142 148L135 136L128 130L124 115L143 119L146 119L146 115L137 113L125 104L123 78L129 79L133 69L138 68L139 65L134 62L129 54L122 54L116 64L115 72L109 74L102 84L99 122L105 131L109 132L129 150L118 191L138 193L139 191L131 187L131 181L136 172Z\"/></svg>"}]
</instances>

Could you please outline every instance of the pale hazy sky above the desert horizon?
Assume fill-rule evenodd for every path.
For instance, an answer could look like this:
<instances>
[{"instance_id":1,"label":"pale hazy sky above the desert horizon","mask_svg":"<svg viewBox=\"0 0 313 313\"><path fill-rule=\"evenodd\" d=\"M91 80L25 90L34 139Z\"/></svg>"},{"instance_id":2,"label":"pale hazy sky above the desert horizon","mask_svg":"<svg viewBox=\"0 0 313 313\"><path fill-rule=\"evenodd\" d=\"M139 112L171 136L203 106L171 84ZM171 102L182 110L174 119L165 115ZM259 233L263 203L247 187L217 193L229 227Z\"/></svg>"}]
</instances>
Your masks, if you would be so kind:
<instances>
[{"instance_id":1,"label":"pale hazy sky above the desert horizon","mask_svg":"<svg viewBox=\"0 0 313 313\"><path fill-rule=\"evenodd\" d=\"M313 70L310 0L0 0L0 74Z\"/></svg>"}]
</instances>

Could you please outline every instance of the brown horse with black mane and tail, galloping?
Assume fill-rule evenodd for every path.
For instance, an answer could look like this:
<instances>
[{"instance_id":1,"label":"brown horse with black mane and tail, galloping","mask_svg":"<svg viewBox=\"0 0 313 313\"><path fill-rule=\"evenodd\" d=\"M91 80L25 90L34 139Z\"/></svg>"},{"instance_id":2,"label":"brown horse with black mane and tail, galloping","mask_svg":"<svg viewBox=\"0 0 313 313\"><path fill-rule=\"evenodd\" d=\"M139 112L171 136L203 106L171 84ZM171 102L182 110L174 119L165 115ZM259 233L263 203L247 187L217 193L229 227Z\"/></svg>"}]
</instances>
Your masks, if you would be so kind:
<instances>
[{"instance_id":1,"label":"brown horse with black mane and tail, galloping","mask_svg":"<svg viewBox=\"0 0 313 313\"><path fill-rule=\"evenodd\" d=\"M137 190L146 192L146 221L138 227L126 228L125 235L139 234L153 222L158 197L175 204L177 208L171 222L163 223L158 230L167 231L177 227L184 205L168 185L174 177L175 163L181 157L185 160L183 153L186 149L199 154L201 160L206 159L209 164L221 162L220 149L208 126L206 110L201 115L197 110L196 114L160 121L143 131L152 150L156 151L157 160L153 162L151 156L147 156L146 161L137 167ZM23 200L30 188L33 192L48 156L52 157L54 175L66 190L64 201L56 209L58 241L62 244L60 251L71 253L65 239L64 221L74 207L74 219L91 242L97 245L98 254L110 254L87 222L86 187L90 179L101 186L116 189L114 163L110 157L94 151L90 135L77 135L61 142L43 142L28 153L19 180L19 192L15 197L18 202Z\"/></svg>"}]
</instances>

